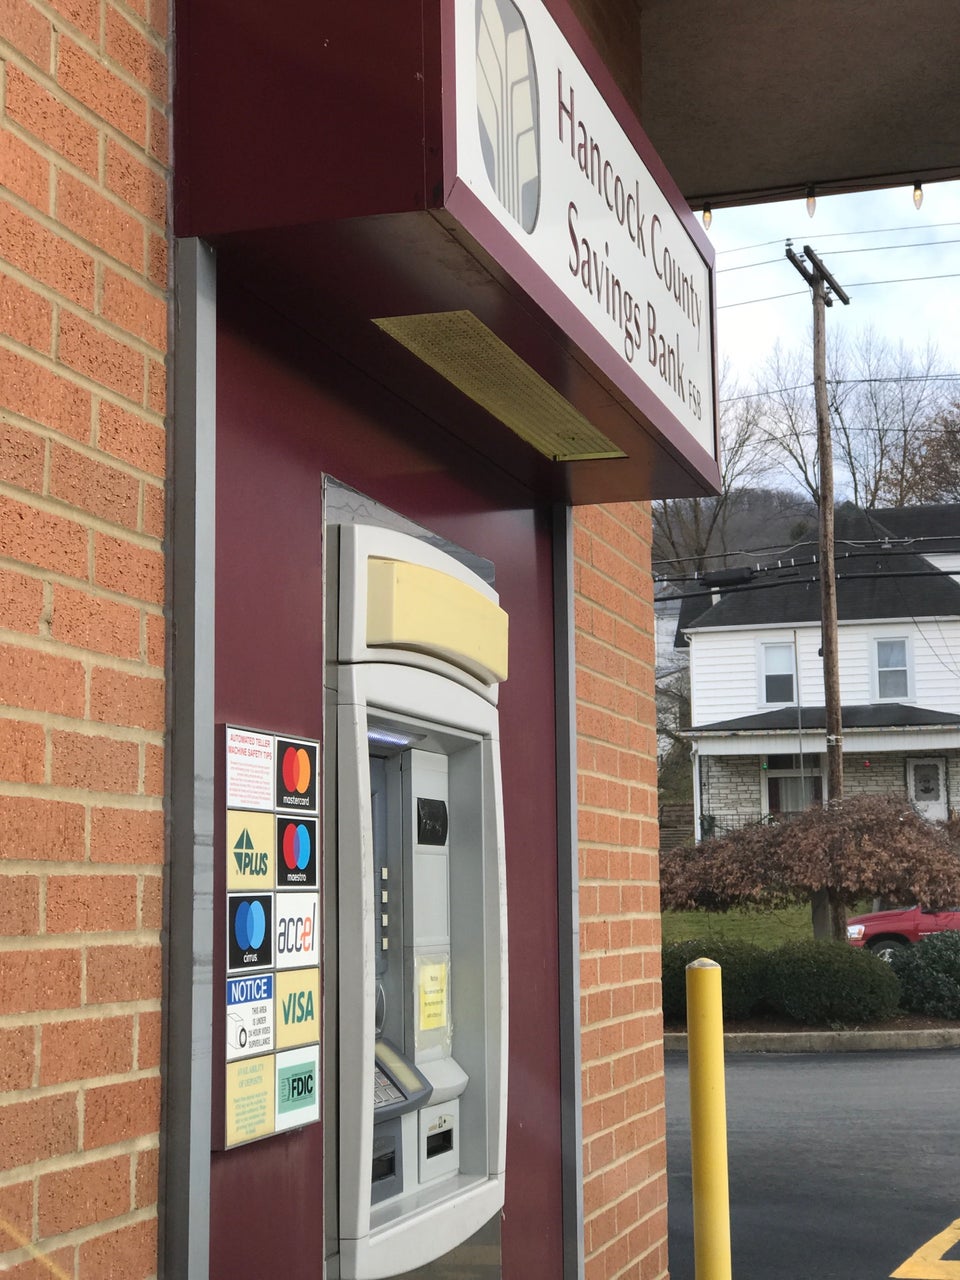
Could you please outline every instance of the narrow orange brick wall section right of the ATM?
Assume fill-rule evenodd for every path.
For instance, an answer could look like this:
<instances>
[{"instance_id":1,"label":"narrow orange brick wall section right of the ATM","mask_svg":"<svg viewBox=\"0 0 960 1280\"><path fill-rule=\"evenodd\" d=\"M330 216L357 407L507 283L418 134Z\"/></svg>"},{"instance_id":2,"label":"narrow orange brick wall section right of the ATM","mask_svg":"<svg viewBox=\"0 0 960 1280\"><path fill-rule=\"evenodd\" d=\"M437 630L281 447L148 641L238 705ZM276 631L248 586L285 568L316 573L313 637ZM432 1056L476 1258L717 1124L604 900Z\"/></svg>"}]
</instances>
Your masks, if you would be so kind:
<instances>
[{"instance_id":1,"label":"narrow orange brick wall section right of the ATM","mask_svg":"<svg viewBox=\"0 0 960 1280\"><path fill-rule=\"evenodd\" d=\"M586 1280L667 1274L650 521L575 512Z\"/></svg>"}]
</instances>

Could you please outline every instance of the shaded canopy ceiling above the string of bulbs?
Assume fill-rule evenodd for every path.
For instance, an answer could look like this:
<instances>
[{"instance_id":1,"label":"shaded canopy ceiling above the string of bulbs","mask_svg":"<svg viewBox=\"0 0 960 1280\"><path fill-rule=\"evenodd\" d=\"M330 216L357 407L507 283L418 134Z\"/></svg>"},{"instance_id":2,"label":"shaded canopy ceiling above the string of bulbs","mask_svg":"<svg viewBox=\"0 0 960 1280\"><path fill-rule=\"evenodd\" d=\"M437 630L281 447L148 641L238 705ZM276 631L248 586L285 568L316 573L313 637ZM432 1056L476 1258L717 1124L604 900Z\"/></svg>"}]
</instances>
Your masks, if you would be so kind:
<instances>
[{"instance_id":1,"label":"shaded canopy ceiling above the string of bulbs","mask_svg":"<svg viewBox=\"0 0 960 1280\"><path fill-rule=\"evenodd\" d=\"M572 0L695 207L960 177L956 0Z\"/></svg>"}]
</instances>

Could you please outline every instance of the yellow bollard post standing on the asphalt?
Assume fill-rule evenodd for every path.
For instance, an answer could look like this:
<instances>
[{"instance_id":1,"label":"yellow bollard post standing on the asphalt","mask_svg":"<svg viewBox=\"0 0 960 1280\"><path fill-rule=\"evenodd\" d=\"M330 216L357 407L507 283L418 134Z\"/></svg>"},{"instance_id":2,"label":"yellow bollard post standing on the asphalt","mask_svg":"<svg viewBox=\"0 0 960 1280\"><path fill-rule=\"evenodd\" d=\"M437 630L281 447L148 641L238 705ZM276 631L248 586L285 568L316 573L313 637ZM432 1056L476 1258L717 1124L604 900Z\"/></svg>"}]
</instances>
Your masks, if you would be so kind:
<instances>
[{"instance_id":1,"label":"yellow bollard post standing on the asphalt","mask_svg":"<svg viewBox=\"0 0 960 1280\"><path fill-rule=\"evenodd\" d=\"M721 968L714 960L694 960L686 966L686 1029L694 1270L696 1280L731 1280L723 1004Z\"/></svg>"}]
</instances>

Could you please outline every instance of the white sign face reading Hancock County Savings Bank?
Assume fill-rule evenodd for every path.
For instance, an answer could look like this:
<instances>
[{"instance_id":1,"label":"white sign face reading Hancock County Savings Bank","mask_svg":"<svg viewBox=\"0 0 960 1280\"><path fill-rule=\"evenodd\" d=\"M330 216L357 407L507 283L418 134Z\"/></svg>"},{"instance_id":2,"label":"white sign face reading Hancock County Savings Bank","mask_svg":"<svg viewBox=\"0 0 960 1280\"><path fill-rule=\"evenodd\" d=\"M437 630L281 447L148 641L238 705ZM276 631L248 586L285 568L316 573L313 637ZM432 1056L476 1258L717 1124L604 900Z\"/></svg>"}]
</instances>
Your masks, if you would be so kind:
<instances>
[{"instance_id":1,"label":"white sign face reading Hancock County Savings Bank","mask_svg":"<svg viewBox=\"0 0 960 1280\"><path fill-rule=\"evenodd\" d=\"M456 69L458 180L716 457L710 266L554 20L458 0Z\"/></svg>"}]
</instances>

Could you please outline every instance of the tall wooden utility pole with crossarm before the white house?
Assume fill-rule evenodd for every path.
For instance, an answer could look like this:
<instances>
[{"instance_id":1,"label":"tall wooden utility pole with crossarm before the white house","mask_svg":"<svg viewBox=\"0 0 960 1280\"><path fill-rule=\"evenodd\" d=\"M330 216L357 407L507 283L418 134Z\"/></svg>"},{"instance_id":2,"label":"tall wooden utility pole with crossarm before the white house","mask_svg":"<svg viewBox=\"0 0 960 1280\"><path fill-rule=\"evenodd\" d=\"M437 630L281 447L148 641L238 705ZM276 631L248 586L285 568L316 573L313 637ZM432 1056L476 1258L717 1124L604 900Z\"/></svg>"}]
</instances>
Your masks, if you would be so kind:
<instances>
[{"instance_id":1,"label":"tall wooden utility pole with crossarm before the white house","mask_svg":"<svg viewBox=\"0 0 960 1280\"><path fill-rule=\"evenodd\" d=\"M844 723L837 646L837 576L833 558L833 443L827 399L826 308L833 306L833 297L827 289L832 289L844 306L850 305L850 298L809 244L804 244L801 259L787 242L786 256L813 289L813 394L817 406L817 451L820 472L820 653L827 721L827 795L831 803L836 803L844 799ZM814 896L814 937L841 934L842 914L837 906L838 904L829 901L826 890Z\"/></svg>"}]
</instances>

